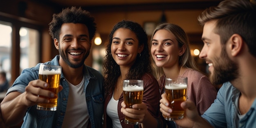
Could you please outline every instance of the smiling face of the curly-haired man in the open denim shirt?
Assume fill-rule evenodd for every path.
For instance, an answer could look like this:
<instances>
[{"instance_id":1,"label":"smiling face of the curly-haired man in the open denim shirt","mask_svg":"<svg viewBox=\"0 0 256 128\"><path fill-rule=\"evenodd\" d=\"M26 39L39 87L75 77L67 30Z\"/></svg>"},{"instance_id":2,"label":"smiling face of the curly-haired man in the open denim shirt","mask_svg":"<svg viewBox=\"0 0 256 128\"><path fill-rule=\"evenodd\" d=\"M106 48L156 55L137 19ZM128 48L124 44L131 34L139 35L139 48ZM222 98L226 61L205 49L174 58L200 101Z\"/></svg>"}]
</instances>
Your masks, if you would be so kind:
<instances>
[{"instance_id":1,"label":"smiling face of the curly-haired man in the open denim shirt","mask_svg":"<svg viewBox=\"0 0 256 128\"><path fill-rule=\"evenodd\" d=\"M54 39L54 44L61 56L60 64L65 63L72 68L81 67L90 53L88 28L81 23L64 23L59 40Z\"/></svg>"}]
</instances>

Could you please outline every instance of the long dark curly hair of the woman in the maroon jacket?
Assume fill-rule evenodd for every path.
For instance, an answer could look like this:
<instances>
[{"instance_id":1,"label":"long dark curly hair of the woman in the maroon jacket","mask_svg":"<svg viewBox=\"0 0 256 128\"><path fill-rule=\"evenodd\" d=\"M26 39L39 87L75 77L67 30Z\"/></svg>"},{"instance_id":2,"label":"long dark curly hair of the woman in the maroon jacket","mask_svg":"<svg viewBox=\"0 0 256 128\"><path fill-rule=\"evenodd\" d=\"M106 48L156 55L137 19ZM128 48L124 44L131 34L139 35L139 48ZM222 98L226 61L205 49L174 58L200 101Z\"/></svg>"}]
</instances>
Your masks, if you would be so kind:
<instances>
[{"instance_id":1,"label":"long dark curly hair of the woman in the maroon jacket","mask_svg":"<svg viewBox=\"0 0 256 128\"><path fill-rule=\"evenodd\" d=\"M123 20L118 22L110 32L108 38L109 42L106 45L106 56L103 63L103 70L105 73L105 93L112 93L115 88L115 83L121 75L120 67L115 62L111 55L112 38L115 31L119 28L130 29L133 31L139 40L139 46L144 45L144 49L137 55L135 63L130 67L126 79L141 79L141 76L146 72L151 72L151 61L148 50L148 36L144 29L137 22Z\"/></svg>"}]
</instances>

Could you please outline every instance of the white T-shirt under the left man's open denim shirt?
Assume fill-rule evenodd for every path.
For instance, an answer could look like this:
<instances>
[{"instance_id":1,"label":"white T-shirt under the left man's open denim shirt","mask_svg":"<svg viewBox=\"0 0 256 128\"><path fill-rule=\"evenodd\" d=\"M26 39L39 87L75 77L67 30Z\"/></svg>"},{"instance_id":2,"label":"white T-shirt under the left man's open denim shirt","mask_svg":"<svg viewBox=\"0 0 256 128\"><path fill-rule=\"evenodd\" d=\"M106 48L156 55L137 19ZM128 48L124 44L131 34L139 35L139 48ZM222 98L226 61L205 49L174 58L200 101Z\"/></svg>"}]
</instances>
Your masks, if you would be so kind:
<instances>
[{"instance_id":1,"label":"white T-shirt under the left man's open denim shirt","mask_svg":"<svg viewBox=\"0 0 256 128\"><path fill-rule=\"evenodd\" d=\"M87 128L89 114L84 91L85 77L78 85L67 83L69 94L62 128Z\"/></svg>"}]
</instances>

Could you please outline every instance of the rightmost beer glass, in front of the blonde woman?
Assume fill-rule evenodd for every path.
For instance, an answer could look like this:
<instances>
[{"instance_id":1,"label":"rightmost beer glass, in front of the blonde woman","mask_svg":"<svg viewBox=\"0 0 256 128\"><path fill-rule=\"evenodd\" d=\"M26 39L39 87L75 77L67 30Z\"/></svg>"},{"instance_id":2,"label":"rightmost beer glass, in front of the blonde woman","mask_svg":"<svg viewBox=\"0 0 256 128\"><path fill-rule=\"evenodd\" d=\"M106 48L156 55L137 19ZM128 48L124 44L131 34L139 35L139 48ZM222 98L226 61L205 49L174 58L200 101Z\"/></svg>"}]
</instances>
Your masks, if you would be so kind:
<instances>
[{"instance_id":1,"label":"rightmost beer glass, in front of the blonde woman","mask_svg":"<svg viewBox=\"0 0 256 128\"><path fill-rule=\"evenodd\" d=\"M170 117L163 115L164 119L168 121L182 119L184 116L184 109L180 104L186 101L186 89L187 89L187 77L176 77L165 79L165 92L166 98L169 101L169 107L173 109L170 113Z\"/></svg>"}]
</instances>

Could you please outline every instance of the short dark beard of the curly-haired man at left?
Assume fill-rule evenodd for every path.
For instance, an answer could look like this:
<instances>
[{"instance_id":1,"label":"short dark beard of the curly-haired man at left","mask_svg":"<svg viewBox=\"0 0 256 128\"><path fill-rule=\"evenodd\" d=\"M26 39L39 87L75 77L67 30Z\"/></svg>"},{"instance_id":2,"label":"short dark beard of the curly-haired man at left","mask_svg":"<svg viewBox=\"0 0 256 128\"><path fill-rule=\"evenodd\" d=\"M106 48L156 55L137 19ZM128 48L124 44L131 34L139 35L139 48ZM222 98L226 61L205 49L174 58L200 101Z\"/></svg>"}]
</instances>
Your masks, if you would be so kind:
<instances>
[{"instance_id":1,"label":"short dark beard of the curly-haired man at left","mask_svg":"<svg viewBox=\"0 0 256 128\"><path fill-rule=\"evenodd\" d=\"M69 53L65 54L65 52L64 52L63 49L59 49L58 51L59 51L59 54L60 54L61 58L63 59L63 61L65 61L65 63L66 63L67 65L69 65L70 67L72 67L72 68L78 68L78 67L83 66L85 59L86 59L86 58L89 56L89 54L90 54L90 49L89 49L89 51L85 54L85 56L83 57L83 59L82 59L81 62L79 62L79 63L77 63L77 64L73 64L73 63L70 62L69 58L67 57L67 54L69 54ZM79 60L77 60L77 61L79 61Z\"/></svg>"}]
</instances>

